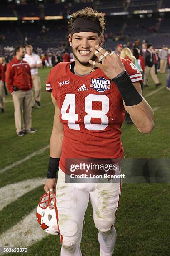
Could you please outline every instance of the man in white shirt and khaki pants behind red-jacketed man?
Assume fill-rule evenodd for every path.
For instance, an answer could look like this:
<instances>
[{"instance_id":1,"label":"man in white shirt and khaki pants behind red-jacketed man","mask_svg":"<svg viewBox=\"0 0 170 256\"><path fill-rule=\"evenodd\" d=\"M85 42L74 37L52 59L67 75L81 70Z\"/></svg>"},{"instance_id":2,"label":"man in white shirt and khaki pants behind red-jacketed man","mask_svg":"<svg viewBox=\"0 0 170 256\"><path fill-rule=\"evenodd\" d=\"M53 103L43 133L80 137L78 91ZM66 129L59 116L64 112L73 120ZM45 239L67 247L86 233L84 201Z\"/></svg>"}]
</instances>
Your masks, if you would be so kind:
<instances>
[{"instance_id":1,"label":"man in white shirt and khaki pants behind red-jacketed man","mask_svg":"<svg viewBox=\"0 0 170 256\"><path fill-rule=\"evenodd\" d=\"M42 67L42 61L37 54L32 53L33 47L32 45L28 44L26 46L26 54L24 60L28 62L31 69L31 77L33 82L33 87L35 90L35 100L32 98L32 108L34 108L35 103L37 107L40 108L40 97L41 97L41 83L40 83L40 76L38 74L38 68Z\"/></svg>"}]
</instances>

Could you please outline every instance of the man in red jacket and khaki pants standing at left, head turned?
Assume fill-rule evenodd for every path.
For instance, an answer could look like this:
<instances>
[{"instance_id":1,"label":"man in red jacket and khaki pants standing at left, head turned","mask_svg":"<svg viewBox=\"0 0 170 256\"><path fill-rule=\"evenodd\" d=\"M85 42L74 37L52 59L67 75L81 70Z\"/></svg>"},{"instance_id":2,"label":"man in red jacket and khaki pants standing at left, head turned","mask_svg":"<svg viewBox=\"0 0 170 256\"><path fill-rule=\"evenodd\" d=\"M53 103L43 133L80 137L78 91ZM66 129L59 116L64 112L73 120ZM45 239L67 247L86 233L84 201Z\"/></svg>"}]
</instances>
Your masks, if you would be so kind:
<instances>
[{"instance_id":1,"label":"man in red jacket and khaki pants standing at left, head turned","mask_svg":"<svg viewBox=\"0 0 170 256\"><path fill-rule=\"evenodd\" d=\"M32 118L32 78L30 66L23 61L25 50L23 47L15 48L15 57L7 65L6 83L14 102L15 127L19 137L25 133L35 133L31 128ZM22 128L22 110L23 110L23 128Z\"/></svg>"}]
</instances>

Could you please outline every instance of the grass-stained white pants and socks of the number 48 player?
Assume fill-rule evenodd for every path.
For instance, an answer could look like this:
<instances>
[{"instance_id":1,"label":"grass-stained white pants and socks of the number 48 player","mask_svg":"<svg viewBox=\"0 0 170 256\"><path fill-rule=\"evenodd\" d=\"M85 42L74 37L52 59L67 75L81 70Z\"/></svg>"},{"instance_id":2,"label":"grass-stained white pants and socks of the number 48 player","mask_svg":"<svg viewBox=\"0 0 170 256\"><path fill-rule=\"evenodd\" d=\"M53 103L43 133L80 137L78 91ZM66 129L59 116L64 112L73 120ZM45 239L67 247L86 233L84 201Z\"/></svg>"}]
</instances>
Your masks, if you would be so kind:
<instances>
[{"instance_id":1,"label":"grass-stained white pants and socks of the number 48 player","mask_svg":"<svg viewBox=\"0 0 170 256\"><path fill-rule=\"evenodd\" d=\"M61 256L81 256L80 242L85 211L90 201L98 229L100 256L112 256L116 241L115 215L120 201L119 183L65 183L59 168L56 197Z\"/></svg>"}]
</instances>

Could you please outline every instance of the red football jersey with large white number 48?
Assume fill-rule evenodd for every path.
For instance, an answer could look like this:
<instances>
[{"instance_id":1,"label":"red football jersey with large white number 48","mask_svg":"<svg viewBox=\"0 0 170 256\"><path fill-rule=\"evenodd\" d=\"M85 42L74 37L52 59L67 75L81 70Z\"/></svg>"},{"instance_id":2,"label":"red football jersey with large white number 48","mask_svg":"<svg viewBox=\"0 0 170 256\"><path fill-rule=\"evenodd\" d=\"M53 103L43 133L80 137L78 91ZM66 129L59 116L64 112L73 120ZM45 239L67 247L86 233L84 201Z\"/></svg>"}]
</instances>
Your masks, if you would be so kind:
<instances>
[{"instance_id":1,"label":"red football jersey with large white number 48","mask_svg":"<svg viewBox=\"0 0 170 256\"><path fill-rule=\"evenodd\" d=\"M122 62L132 82L142 82L137 67L127 59ZM61 62L51 69L46 90L57 100L64 125L59 163L63 172L66 158L122 158L125 108L116 84L101 69L78 76L70 71L70 62Z\"/></svg>"}]
</instances>

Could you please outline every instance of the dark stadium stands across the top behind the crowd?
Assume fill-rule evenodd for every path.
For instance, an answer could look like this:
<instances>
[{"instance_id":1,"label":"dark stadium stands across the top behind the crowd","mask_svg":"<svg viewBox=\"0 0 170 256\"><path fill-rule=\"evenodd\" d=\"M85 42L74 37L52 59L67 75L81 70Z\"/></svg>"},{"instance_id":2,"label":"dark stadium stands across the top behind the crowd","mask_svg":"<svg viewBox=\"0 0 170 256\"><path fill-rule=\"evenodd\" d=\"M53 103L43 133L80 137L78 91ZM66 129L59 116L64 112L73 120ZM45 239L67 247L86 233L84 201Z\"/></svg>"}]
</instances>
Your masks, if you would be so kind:
<instances>
[{"instance_id":1,"label":"dark stadium stands across the top behind the crowd","mask_svg":"<svg viewBox=\"0 0 170 256\"><path fill-rule=\"evenodd\" d=\"M28 1L27 1L28 2ZM27 43L40 47L67 45L67 15L85 6L104 13L106 20L105 47L114 48L117 44L132 44L134 40L154 41L155 47L162 47L163 42L170 47L170 15L158 12L159 8L168 8L169 0L98 0L98 1L44 1L38 4L5 5L0 1L1 17L18 17L18 21L1 21L0 45L16 46ZM26 3L26 1L25 1ZM133 14L135 10L152 12ZM127 15L115 15L128 12ZM61 20L44 20L45 16L61 15ZM24 17L40 17L40 20L23 20ZM46 32L42 33L42 26Z\"/></svg>"}]
</instances>

